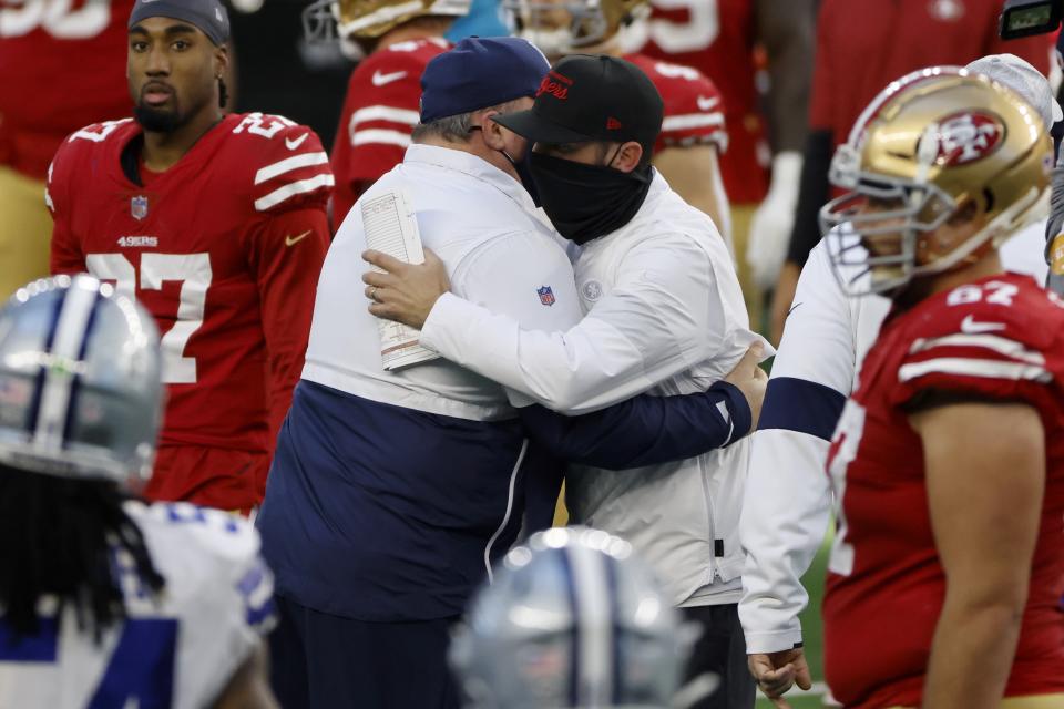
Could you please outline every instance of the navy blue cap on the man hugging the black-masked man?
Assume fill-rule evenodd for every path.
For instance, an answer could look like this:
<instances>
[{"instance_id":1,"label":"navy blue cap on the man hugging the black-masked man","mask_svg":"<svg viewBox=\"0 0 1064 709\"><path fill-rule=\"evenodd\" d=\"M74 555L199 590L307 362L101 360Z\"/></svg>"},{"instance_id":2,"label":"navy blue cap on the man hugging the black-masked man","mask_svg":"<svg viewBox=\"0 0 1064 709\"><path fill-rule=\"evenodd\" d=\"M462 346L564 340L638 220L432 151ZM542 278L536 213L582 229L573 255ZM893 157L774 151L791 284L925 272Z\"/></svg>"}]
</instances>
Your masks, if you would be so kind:
<instances>
[{"instance_id":1,"label":"navy blue cap on the man hugging the black-masked man","mask_svg":"<svg viewBox=\"0 0 1064 709\"><path fill-rule=\"evenodd\" d=\"M421 123L534 96L551 69L528 40L471 37L432 58L421 74Z\"/></svg>"}]
</instances>

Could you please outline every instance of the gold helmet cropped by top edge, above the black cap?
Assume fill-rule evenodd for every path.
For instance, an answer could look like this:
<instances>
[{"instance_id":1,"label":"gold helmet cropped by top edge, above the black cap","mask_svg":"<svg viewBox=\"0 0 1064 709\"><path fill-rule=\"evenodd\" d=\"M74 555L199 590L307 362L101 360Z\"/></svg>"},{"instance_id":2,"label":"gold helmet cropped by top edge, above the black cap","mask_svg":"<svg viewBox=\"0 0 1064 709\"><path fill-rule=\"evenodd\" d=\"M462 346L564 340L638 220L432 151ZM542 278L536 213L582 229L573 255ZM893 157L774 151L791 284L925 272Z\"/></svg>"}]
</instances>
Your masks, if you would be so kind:
<instances>
[{"instance_id":1,"label":"gold helmet cropped by top edge, above the black cap","mask_svg":"<svg viewBox=\"0 0 1064 709\"><path fill-rule=\"evenodd\" d=\"M551 58L614 38L649 13L649 0L502 0L513 33Z\"/></svg>"}]
</instances>

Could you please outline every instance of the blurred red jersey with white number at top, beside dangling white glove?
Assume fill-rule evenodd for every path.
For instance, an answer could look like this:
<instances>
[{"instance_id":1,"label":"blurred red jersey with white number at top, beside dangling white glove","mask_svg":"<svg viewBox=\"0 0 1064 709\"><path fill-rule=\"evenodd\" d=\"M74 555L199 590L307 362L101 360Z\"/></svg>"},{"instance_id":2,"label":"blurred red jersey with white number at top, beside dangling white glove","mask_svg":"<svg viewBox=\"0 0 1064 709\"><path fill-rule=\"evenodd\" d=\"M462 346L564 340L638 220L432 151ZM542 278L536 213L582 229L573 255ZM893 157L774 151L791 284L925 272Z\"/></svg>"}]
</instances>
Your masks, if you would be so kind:
<instances>
[{"instance_id":1,"label":"blurred red jersey with white number at top, beside dangling white glove","mask_svg":"<svg viewBox=\"0 0 1064 709\"><path fill-rule=\"evenodd\" d=\"M720 157L724 186L734 205L760 202L768 189L769 153L757 105L753 0L652 4L649 21L633 25L632 44L641 54L697 69L719 88L729 136ZM645 37L637 37L642 32Z\"/></svg>"}]
</instances>

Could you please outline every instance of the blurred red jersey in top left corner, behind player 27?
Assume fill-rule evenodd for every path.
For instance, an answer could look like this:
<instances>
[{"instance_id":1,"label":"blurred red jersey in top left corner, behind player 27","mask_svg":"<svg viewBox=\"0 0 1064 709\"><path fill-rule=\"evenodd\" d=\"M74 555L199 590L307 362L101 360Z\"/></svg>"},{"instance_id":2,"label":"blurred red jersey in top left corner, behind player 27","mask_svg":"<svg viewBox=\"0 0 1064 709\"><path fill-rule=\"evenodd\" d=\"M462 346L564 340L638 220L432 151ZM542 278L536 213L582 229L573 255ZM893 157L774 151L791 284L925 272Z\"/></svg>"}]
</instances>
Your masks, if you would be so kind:
<instances>
[{"instance_id":1,"label":"blurred red jersey in top left corner, behind player 27","mask_svg":"<svg viewBox=\"0 0 1064 709\"><path fill-rule=\"evenodd\" d=\"M43 179L79 126L130 114L133 0L0 2L0 165Z\"/></svg>"}]
</instances>

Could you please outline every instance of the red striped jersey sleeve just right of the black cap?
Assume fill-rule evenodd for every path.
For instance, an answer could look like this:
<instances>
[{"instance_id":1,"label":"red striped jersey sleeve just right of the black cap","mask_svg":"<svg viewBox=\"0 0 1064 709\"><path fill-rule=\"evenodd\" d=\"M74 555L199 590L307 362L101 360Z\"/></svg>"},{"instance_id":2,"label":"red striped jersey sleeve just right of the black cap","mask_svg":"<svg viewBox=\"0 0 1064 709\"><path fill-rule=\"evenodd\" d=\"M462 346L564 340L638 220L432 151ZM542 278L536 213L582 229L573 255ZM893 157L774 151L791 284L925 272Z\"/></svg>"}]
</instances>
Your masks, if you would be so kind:
<instances>
[{"instance_id":1,"label":"red striped jersey sleeve just right of the black cap","mask_svg":"<svg viewBox=\"0 0 1064 709\"><path fill-rule=\"evenodd\" d=\"M666 147L713 143L720 153L728 147L724 101L717 86L697 69L681 66L643 54L625 54L649 76L665 102L665 120L654 152Z\"/></svg>"}]
</instances>

